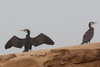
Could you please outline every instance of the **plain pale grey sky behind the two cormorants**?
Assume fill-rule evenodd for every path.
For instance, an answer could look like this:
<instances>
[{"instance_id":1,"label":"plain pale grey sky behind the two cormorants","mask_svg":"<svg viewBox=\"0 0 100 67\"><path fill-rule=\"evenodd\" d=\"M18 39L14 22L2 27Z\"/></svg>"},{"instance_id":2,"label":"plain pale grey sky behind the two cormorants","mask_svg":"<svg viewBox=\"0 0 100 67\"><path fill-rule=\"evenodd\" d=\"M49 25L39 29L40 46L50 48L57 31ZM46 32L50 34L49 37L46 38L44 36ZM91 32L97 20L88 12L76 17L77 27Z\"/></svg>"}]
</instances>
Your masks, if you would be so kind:
<instances>
[{"instance_id":1,"label":"plain pale grey sky behind the two cormorants","mask_svg":"<svg viewBox=\"0 0 100 67\"><path fill-rule=\"evenodd\" d=\"M30 29L31 37L48 35L55 45L32 47L32 51L78 45L90 21L95 35L91 43L100 41L99 0L0 0L0 54L20 53L24 48L5 50L7 41L16 35L25 38L22 29Z\"/></svg>"}]
</instances>

